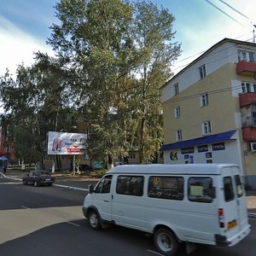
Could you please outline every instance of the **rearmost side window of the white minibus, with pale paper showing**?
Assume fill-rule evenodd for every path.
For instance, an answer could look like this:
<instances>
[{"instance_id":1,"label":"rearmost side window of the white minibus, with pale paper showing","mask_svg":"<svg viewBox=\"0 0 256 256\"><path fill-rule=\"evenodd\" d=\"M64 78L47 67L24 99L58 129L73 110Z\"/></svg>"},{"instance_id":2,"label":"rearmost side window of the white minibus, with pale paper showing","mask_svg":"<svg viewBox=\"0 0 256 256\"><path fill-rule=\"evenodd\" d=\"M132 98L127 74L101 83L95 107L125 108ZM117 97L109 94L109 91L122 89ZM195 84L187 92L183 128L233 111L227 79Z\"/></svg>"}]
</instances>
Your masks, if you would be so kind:
<instances>
[{"instance_id":1,"label":"rearmost side window of the white minibus, with pale paper showing","mask_svg":"<svg viewBox=\"0 0 256 256\"><path fill-rule=\"evenodd\" d=\"M210 203L213 197L211 177L189 177L189 201Z\"/></svg>"}]
</instances>

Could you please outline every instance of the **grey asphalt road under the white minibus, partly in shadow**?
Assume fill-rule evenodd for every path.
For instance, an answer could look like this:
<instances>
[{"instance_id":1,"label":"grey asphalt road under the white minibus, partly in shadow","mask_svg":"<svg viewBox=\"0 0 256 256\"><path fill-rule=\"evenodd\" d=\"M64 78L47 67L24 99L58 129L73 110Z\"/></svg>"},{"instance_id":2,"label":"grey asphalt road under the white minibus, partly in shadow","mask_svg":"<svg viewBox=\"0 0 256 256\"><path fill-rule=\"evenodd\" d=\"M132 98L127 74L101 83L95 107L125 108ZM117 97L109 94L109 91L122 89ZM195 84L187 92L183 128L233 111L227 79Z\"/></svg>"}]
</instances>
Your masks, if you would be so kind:
<instances>
[{"instance_id":1,"label":"grey asphalt road under the white minibus, partly in shadow","mask_svg":"<svg viewBox=\"0 0 256 256\"><path fill-rule=\"evenodd\" d=\"M152 256L151 236L113 226L90 230L81 207L86 192L33 187L0 178L0 255ZM194 256L254 256L256 219L251 234L235 247L200 246ZM186 255L181 250L178 255Z\"/></svg>"}]
</instances>

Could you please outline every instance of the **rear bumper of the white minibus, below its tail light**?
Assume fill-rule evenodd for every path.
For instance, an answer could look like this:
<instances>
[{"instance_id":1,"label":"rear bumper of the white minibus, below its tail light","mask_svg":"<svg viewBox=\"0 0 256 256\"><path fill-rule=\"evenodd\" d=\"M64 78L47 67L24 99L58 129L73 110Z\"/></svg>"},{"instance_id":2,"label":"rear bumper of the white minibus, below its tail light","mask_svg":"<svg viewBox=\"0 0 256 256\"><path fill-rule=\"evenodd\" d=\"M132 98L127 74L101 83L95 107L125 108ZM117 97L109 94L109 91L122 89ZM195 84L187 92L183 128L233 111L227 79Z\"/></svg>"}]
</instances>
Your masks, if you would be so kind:
<instances>
[{"instance_id":1,"label":"rear bumper of the white minibus, below its tail light","mask_svg":"<svg viewBox=\"0 0 256 256\"><path fill-rule=\"evenodd\" d=\"M247 224L247 226L238 232L235 236L231 236L227 238L226 236L215 235L215 241L217 246L228 246L232 247L236 245L239 241L243 240L246 236L251 232L251 225Z\"/></svg>"}]
</instances>

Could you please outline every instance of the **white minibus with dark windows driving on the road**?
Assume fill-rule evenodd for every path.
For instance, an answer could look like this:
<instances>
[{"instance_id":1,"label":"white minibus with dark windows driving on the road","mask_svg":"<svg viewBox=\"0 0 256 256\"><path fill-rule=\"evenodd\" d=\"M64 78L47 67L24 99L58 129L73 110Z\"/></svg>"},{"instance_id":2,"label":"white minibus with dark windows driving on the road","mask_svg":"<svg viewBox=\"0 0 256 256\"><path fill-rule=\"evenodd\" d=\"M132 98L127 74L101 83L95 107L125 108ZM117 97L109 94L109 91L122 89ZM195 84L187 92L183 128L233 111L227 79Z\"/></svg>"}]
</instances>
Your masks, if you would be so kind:
<instances>
[{"instance_id":1,"label":"white minibus with dark windows driving on the road","mask_svg":"<svg viewBox=\"0 0 256 256\"><path fill-rule=\"evenodd\" d=\"M231 247L251 230L233 164L116 166L89 191L83 212L92 229L118 224L148 232L164 255L181 242Z\"/></svg>"}]
</instances>

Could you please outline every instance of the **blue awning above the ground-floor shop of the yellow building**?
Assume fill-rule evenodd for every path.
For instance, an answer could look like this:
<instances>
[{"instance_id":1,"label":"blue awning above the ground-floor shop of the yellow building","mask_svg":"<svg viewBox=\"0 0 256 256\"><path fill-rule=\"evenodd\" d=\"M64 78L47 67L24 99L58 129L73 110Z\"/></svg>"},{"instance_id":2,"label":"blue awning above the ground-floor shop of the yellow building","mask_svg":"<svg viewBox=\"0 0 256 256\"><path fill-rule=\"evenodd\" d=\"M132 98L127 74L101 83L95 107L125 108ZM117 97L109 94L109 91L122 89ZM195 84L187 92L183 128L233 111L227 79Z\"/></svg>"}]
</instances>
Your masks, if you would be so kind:
<instances>
[{"instance_id":1,"label":"blue awning above the ground-floor shop of the yellow building","mask_svg":"<svg viewBox=\"0 0 256 256\"><path fill-rule=\"evenodd\" d=\"M205 145L210 143L220 143L226 140L229 140L235 134L236 130L233 131L225 131L214 135L209 135L206 137L197 137L195 139L178 142L178 143L171 143L163 145L160 150L165 151L173 148L189 148L192 146L198 145Z\"/></svg>"}]
</instances>

